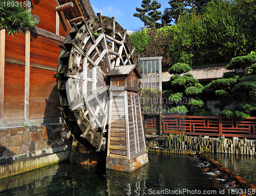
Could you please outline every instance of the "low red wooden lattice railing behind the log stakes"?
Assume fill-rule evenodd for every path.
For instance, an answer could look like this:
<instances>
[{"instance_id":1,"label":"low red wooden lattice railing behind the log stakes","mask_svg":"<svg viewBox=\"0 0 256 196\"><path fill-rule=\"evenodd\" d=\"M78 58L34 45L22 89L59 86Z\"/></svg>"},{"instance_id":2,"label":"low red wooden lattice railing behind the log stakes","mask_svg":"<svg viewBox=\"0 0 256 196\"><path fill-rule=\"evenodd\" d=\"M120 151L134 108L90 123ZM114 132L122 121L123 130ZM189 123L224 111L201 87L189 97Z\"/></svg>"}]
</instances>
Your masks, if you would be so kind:
<instances>
[{"instance_id":1,"label":"low red wooden lattice railing behind the log stakes","mask_svg":"<svg viewBox=\"0 0 256 196\"><path fill-rule=\"evenodd\" d=\"M154 120L145 121L145 132L154 127ZM227 119L209 116L163 116L165 134L182 133L186 135L223 136L256 138L256 117L247 119ZM151 132L152 133L152 132Z\"/></svg>"}]
</instances>

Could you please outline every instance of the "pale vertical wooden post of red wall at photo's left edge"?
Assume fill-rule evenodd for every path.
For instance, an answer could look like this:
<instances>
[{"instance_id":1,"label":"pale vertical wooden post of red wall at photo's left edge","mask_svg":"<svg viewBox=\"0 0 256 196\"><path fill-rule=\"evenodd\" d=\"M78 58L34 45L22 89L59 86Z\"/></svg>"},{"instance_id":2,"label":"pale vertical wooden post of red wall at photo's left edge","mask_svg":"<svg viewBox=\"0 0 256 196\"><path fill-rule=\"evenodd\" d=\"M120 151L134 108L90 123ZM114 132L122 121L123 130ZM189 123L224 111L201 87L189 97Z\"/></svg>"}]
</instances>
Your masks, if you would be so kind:
<instances>
[{"instance_id":1,"label":"pale vertical wooden post of red wall at photo's left edge","mask_svg":"<svg viewBox=\"0 0 256 196\"><path fill-rule=\"evenodd\" d=\"M5 29L0 31L0 123L4 122L4 86L5 86Z\"/></svg>"}]
</instances>

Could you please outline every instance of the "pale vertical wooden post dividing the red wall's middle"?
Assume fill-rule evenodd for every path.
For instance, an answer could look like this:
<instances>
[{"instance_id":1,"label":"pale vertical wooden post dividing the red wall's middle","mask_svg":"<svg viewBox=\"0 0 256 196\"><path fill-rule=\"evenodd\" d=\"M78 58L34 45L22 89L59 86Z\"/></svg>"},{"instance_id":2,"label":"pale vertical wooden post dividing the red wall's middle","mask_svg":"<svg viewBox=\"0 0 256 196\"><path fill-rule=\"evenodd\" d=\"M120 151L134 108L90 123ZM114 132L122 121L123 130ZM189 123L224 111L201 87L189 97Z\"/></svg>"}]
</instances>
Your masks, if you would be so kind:
<instances>
[{"instance_id":1,"label":"pale vertical wooden post dividing the red wall's middle","mask_svg":"<svg viewBox=\"0 0 256 196\"><path fill-rule=\"evenodd\" d=\"M27 5L29 0L27 0ZM27 6L27 10L31 11L31 7ZM25 104L24 104L24 123L29 121L29 82L30 82L30 31L26 33L25 42Z\"/></svg>"}]
</instances>

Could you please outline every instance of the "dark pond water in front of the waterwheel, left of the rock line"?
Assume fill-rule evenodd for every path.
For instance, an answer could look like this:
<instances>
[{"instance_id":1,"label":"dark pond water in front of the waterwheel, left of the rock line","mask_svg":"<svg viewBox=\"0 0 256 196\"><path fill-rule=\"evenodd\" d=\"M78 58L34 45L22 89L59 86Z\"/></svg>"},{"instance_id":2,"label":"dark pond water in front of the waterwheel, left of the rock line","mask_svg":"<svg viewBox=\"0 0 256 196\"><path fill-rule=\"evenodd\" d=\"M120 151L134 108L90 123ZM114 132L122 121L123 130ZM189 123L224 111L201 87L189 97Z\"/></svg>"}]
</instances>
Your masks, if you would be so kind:
<instances>
[{"instance_id":1,"label":"dark pond water in front of the waterwheel, left of the rock line","mask_svg":"<svg viewBox=\"0 0 256 196\"><path fill-rule=\"evenodd\" d=\"M38 177L37 180L6 189L0 195L150 195L150 192L165 189L215 190L217 193L224 190L223 182L202 172L203 168L194 158L175 155L150 155L148 158L150 164L132 173L106 170L100 164L88 169L79 164L59 163L48 167L55 168L49 176L41 176L42 169L35 170L33 175ZM27 173L28 178L30 173ZM19 178L22 179L22 175L16 176L15 180L5 180L14 183Z\"/></svg>"}]
</instances>

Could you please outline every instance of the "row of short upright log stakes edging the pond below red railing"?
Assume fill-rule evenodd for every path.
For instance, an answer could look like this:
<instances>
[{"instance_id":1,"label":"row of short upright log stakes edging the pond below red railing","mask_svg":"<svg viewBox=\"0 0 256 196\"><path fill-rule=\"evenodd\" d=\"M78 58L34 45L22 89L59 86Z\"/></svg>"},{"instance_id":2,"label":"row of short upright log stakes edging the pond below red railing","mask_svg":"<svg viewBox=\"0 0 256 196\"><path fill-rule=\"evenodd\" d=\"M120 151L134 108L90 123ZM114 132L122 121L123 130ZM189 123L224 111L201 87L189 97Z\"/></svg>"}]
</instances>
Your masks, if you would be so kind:
<instances>
[{"instance_id":1,"label":"row of short upright log stakes edging the pond below red railing","mask_svg":"<svg viewBox=\"0 0 256 196\"><path fill-rule=\"evenodd\" d=\"M255 140L246 138L227 139L187 136L184 133L167 136L146 136L148 147L161 147L177 150L194 150L205 153L225 153L234 155L256 155Z\"/></svg>"}]
</instances>

